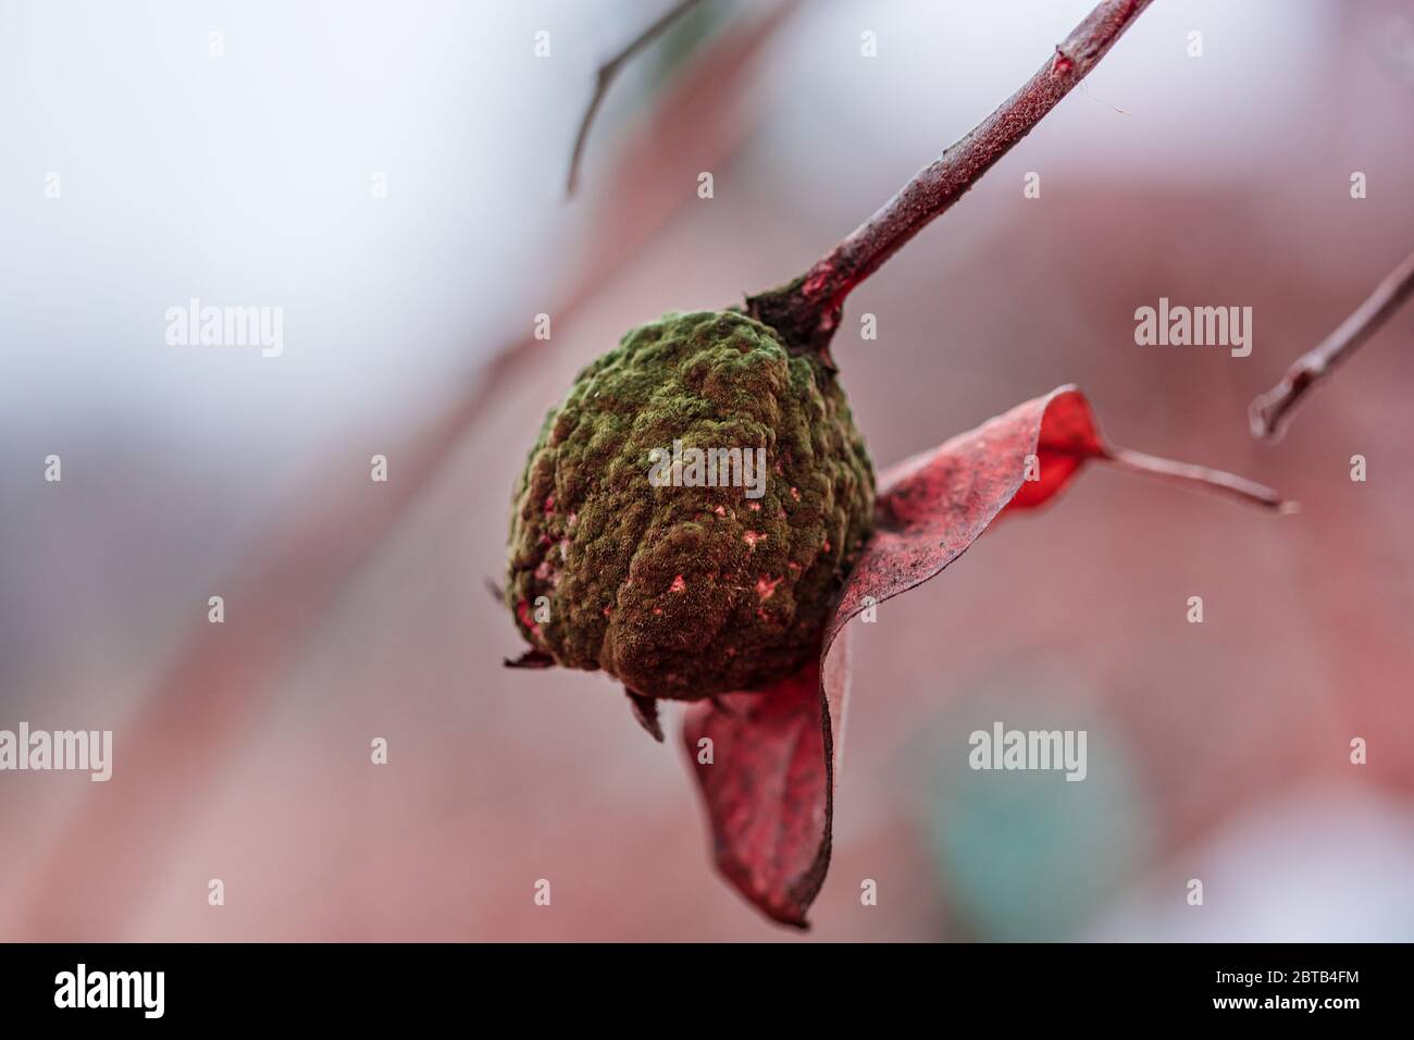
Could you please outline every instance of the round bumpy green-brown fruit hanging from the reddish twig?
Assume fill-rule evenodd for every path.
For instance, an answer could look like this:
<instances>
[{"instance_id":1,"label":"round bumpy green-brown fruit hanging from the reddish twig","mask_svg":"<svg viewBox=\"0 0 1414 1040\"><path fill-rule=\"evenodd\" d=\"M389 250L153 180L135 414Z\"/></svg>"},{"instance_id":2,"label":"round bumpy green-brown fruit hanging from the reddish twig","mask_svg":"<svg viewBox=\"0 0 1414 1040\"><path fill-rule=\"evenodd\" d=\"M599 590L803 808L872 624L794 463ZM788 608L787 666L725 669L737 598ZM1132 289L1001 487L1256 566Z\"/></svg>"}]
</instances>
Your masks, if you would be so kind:
<instances>
[{"instance_id":1,"label":"round bumpy green-brown fruit hanging from the reddish twig","mask_svg":"<svg viewBox=\"0 0 1414 1040\"><path fill-rule=\"evenodd\" d=\"M682 485L690 464L655 485L674 440L689 461L765 449L764 488ZM872 512L864 440L820 361L742 314L666 314L547 416L516 485L506 606L556 664L642 696L762 689L817 652Z\"/></svg>"}]
</instances>

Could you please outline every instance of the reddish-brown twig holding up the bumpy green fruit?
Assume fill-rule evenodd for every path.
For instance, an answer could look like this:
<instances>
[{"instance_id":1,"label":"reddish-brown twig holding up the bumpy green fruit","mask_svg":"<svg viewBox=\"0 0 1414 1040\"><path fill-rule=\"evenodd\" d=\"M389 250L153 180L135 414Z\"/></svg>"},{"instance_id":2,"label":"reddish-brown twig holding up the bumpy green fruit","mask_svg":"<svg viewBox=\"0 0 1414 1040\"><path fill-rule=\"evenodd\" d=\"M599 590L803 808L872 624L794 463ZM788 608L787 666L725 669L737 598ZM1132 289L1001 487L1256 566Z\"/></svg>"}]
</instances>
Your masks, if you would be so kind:
<instances>
[{"instance_id":1,"label":"reddish-brown twig holding up the bumpy green fruit","mask_svg":"<svg viewBox=\"0 0 1414 1040\"><path fill-rule=\"evenodd\" d=\"M800 277L747 299L747 313L827 365L844 297L947 211L1093 69L1151 0L1104 0L1051 59L971 133L919 170L904 190Z\"/></svg>"}]
</instances>

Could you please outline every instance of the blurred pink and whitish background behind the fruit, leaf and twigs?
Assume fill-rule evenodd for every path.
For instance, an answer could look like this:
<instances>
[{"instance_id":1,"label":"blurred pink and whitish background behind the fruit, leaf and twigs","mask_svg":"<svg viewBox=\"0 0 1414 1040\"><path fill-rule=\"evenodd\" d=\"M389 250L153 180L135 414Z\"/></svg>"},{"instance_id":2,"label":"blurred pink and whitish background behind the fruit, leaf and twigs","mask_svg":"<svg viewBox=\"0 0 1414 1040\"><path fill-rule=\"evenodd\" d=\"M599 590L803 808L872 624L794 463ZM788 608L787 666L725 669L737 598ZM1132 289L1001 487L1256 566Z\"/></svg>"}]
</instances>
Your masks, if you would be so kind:
<instances>
[{"instance_id":1,"label":"blurred pink and whitish background behind the fruit, leaf and twigs","mask_svg":"<svg viewBox=\"0 0 1414 1040\"><path fill-rule=\"evenodd\" d=\"M674 737L501 666L510 488L583 364L805 270L1092 3L701 0L566 201L667 7L0 6L0 729L115 732L107 784L0 775L0 938L802 941L715 877ZM1414 3L1157 0L850 299L881 466L1076 382L1302 509L1096 467L855 625L806 940L1414 938L1414 308L1246 426L1414 245L1411 109ZM1137 347L1159 296L1250 306L1251 355ZM168 345L189 297L283 307L283 354ZM1087 729L1087 781L971 773L998 719Z\"/></svg>"}]
</instances>

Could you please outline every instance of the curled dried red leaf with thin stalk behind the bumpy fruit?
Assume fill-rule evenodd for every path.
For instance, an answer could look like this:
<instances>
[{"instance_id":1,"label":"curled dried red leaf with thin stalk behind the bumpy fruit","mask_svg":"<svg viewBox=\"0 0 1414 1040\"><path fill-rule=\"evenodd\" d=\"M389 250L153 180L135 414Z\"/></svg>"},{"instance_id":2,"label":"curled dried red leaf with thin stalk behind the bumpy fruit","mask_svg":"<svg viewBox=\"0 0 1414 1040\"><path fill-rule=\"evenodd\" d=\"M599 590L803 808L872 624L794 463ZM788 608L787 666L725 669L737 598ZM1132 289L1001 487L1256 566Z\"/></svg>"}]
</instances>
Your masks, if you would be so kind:
<instances>
[{"instance_id":1,"label":"curled dried red leaf with thin stalk behind the bumpy fruit","mask_svg":"<svg viewBox=\"0 0 1414 1040\"><path fill-rule=\"evenodd\" d=\"M725 706L697 703L687 716L684 739L707 802L717 866L768 915L805 927L830 863L848 685L846 641L837 640L844 625L865 607L940 573L1004 509L1048 502L1090 458L1267 508L1282 505L1274 491L1241 477L1106 444L1089 402L1073 386L1018 405L884 473L877 529L824 630L820 664L769 691L728 695ZM711 764L697 757L703 737L713 740Z\"/></svg>"}]
</instances>

